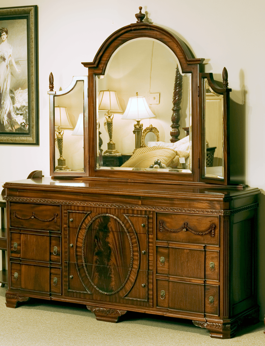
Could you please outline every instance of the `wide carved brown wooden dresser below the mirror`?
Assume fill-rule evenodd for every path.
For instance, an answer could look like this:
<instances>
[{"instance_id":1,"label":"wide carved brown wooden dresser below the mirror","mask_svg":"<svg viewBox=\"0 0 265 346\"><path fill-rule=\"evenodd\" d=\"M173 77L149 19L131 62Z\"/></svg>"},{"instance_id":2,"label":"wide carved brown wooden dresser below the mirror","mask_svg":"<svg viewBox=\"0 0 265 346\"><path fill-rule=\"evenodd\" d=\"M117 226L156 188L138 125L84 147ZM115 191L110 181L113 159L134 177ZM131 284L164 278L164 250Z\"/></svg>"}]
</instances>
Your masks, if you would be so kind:
<instances>
[{"instance_id":1,"label":"wide carved brown wooden dresser below the mirror","mask_svg":"<svg viewBox=\"0 0 265 346\"><path fill-rule=\"evenodd\" d=\"M147 312L216 338L258 320L258 189L50 178L4 188L7 307L75 302L110 322Z\"/></svg>"}]
</instances>

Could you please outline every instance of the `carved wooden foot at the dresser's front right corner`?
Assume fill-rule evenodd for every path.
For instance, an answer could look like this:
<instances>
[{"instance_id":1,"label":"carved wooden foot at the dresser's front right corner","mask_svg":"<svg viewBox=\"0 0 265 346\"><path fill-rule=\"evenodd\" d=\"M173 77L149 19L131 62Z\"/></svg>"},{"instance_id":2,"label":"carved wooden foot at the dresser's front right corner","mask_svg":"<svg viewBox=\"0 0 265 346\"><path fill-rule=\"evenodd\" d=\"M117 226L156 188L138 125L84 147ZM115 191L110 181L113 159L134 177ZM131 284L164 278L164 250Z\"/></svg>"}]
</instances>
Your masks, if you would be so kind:
<instances>
[{"instance_id":1,"label":"carved wooden foot at the dresser's front right corner","mask_svg":"<svg viewBox=\"0 0 265 346\"><path fill-rule=\"evenodd\" d=\"M230 339L235 336L235 330L237 328L237 322L233 324L221 324L214 322L201 322L201 321L192 321L195 326L201 328L207 328L210 332L211 338L216 339Z\"/></svg>"}]
</instances>

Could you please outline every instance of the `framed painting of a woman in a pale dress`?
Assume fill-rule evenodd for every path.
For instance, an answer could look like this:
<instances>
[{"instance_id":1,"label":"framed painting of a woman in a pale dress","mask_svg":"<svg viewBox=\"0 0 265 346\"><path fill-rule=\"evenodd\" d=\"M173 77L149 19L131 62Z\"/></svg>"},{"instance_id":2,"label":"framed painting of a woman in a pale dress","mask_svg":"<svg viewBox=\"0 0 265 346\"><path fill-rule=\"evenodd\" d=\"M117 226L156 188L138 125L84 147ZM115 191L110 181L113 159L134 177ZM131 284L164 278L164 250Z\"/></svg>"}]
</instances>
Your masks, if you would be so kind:
<instances>
[{"instance_id":1,"label":"framed painting of a woman in a pale dress","mask_svg":"<svg viewBox=\"0 0 265 346\"><path fill-rule=\"evenodd\" d=\"M0 144L39 145L38 6L0 8Z\"/></svg>"}]
</instances>

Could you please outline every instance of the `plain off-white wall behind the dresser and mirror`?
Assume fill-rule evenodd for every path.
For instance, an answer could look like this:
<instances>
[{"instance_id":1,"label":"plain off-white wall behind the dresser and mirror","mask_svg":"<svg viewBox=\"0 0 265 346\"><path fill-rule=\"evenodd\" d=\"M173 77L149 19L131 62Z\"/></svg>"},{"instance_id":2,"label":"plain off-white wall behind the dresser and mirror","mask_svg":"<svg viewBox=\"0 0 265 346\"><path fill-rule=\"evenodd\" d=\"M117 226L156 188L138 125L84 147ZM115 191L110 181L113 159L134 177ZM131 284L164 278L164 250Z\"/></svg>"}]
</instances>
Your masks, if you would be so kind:
<instances>
[{"instance_id":1,"label":"plain off-white wall behind the dresser and mirror","mask_svg":"<svg viewBox=\"0 0 265 346\"><path fill-rule=\"evenodd\" d=\"M32 5L31 0L1 0L1 7ZM36 0L39 6L40 146L0 146L0 181L19 180L33 170L49 176L48 79L55 90L65 89L73 75L84 75L81 62L93 60L98 48L115 30L135 22L139 5L153 24L177 34L195 57L206 59L206 72L221 80L228 71L233 125L231 146L240 150L231 166L239 179L262 190L258 231L258 299L265 313L265 72L264 0Z\"/></svg>"}]
</instances>

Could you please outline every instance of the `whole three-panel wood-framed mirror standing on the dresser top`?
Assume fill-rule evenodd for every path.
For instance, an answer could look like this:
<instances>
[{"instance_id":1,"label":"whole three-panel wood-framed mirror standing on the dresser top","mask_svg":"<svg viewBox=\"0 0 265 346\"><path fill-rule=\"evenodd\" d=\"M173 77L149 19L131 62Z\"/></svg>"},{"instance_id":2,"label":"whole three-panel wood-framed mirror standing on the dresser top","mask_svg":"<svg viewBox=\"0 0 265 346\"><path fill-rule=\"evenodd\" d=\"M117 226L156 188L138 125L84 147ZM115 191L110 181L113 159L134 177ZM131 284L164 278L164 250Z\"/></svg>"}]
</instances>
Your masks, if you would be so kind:
<instances>
[{"instance_id":1,"label":"whole three-panel wood-framed mirror standing on the dresser top","mask_svg":"<svg viewBox=\"0 0 265 346\"><path fill-rule=\"evenodd\" d=\"M51 74L51 176L229 184L228 74L218 86L203 61L169 31L138 22L108 37L67 89L53 91ZM159 140L150 131L143 144L151 126Z\"/></svg>"}]
</instances>

